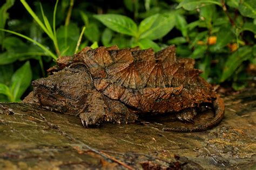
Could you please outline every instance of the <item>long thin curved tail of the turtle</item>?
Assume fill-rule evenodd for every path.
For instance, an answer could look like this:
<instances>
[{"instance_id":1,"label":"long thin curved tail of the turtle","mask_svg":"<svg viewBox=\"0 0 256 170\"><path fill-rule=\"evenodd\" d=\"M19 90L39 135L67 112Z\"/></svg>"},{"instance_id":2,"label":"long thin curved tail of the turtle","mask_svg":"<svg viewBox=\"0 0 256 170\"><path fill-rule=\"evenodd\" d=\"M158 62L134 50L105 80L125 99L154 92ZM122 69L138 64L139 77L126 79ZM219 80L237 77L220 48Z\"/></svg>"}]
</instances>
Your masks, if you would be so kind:
<instances>
[{"instance_id":1,"label":"long thin curved tail of the turtle","mask_svg":"<svg viewBox=\"0 0 256 170\"><path fill-rule=\"evenodd\" d=\"M171 131L171 132L199 132L205 131L207 129L213 128L213 126L217 125L224 117L225 105L224 101L220 96L217 94L216 100L213 102L213 108L215 110L215 116L212 121L199 125L193 128L163 128L164 131Z\"/></svg>"}]
</instances>

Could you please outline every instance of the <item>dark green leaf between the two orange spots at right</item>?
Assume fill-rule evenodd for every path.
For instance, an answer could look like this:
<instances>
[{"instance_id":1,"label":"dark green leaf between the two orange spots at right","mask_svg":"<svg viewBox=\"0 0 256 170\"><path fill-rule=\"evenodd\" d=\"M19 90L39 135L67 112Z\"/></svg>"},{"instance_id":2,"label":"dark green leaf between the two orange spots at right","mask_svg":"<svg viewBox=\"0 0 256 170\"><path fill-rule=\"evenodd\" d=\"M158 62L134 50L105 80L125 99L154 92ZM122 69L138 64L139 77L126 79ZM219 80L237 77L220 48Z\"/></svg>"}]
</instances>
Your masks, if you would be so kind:
<instances>
[{"instance_id":1,"label":"dark green leaf between the two orange spots at right","mask_svg":"<svg viewBox=\"0 0 256 170\"><path fill-rule=\"evenodd\" d=\"M219 50L235 39L231 27L222 27L217 34L217 42L213 46L214 50Z\"/></svg>"}]
</instances>

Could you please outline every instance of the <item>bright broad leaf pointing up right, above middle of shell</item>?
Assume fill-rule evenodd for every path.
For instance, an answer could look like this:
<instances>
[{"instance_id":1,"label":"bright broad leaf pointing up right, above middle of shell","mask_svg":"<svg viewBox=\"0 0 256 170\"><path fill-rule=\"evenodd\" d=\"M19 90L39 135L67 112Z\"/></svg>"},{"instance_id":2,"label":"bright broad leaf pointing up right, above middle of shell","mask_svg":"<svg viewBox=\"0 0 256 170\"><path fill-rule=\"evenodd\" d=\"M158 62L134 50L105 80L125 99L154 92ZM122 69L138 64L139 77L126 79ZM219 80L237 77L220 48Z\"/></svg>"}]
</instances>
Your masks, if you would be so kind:
<instances>
[{"instance_id":1,"label":"bright broad leaf pointing up right, above middle of shell","mask_svg":"<svg viewBox=\"0 0 256 170\"><path fill-rule=\"evenodd\" d=\"M145 30L143 33L141 33L139 38L140 39L147 38L147 39L155 40L155 39L164 37L175 26L176 24L175 15L176 14L172 12L172 13L165 13L161 15L151 16L152 18L148 19L149 20L148 25L145 24L146 21L144 20L143 25L146 25L148 29ZM153 20L154 22L151 24ZM149 25L151 26L149 27Z\"/></svg>"}]
</instances>

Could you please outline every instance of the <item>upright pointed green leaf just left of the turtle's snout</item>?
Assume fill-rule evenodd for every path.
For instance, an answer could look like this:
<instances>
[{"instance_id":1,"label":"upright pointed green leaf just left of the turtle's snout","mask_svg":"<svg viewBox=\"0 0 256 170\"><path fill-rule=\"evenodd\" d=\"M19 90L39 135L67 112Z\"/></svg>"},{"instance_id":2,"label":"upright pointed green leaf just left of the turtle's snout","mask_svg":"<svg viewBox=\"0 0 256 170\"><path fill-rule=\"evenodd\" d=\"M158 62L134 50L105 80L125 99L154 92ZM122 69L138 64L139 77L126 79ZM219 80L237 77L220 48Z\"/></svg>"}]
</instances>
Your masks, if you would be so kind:
<instances>
[{"instance_id":1,"label":"upright pointed green leaf just left of the turtle's snout","mask_svg":"<svg viewBox=\"0 0 256 170\"><path fill-rule=\"evenodd\" d=\"M11 102L16 102L21 98L25 90L30 86L31 80L32 72L30 63L29 61L26 61L25 64L17 69L11 77Z\"/></svg>"}]
</instances>

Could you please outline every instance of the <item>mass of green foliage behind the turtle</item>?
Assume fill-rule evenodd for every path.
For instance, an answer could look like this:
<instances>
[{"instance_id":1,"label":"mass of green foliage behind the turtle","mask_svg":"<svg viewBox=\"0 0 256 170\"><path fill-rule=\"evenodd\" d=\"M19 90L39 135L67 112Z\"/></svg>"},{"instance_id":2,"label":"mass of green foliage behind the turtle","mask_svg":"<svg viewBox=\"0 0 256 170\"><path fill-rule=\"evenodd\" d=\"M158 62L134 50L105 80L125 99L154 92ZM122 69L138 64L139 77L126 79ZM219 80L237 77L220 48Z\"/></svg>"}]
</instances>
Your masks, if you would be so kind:
<instances>
[{"instance_id":1,"label":"mass of green foliage behind the turtle","mask_svg":"<svg viewBox=\"0 0 256 170\"><path fill-rule=\"evenodd\" d=\"M177 56L196 59L211 83L238 90L253 79L246 69L256 65L254 0L102 2L1 2L0 101L20 101L58 57L85 46L159 51L175 44Z\"/></svg>"}]
</instances>

